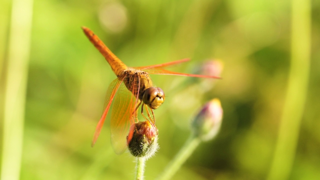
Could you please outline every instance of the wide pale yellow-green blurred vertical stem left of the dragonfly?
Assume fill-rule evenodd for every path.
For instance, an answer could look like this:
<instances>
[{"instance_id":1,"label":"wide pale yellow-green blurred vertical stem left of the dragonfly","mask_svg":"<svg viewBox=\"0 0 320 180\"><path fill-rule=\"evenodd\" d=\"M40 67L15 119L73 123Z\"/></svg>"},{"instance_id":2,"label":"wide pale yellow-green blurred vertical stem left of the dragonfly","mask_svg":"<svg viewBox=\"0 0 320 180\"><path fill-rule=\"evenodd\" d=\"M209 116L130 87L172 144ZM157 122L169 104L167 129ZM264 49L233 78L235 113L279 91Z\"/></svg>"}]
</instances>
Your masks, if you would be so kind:
<instances>
[{"instance_id":1,"label":"wide pale yellow-green blurred vertical stem left of the dragonfly","mask_svg":"<svg viewBox=\"0 0 320 180\"><path fill-rule=\"evenodd\" d=\"M20 179L33 0L13 0L4 97L1 180Z\"/></svg>"}]
</instances>

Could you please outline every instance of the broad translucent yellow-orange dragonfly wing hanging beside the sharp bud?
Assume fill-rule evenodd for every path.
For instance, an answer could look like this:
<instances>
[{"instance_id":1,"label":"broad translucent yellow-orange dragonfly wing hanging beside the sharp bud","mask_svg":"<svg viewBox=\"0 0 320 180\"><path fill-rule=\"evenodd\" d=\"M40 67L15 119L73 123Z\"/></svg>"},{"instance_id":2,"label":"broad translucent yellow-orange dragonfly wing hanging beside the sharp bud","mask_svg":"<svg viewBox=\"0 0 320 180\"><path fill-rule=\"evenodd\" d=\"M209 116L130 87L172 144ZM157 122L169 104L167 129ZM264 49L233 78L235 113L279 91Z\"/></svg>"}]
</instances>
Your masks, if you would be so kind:
<instances>
[{"instance_id":1,"label":"broad translucent yellow-orange dragonfly wing hanging beside the sharp bud","mask_svg":"<svg viewBox=\"0 0 320 180\"><path fill-rule=\"evenodd\" d=\"M114 99L110 121L111 143L116 154L123 153L127 148L127 136L134 123L136 104L136 97L122 83Z\"/></svg>"}]
</instances>

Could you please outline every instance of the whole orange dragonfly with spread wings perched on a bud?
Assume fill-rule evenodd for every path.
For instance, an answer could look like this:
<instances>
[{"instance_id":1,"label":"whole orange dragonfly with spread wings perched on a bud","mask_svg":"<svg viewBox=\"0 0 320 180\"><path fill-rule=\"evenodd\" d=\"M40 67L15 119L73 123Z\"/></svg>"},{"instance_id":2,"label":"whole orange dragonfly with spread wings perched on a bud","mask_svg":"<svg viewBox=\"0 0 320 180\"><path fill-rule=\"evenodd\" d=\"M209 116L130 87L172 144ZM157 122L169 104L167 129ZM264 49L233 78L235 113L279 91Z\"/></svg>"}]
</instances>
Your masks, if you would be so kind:
<instances>
[{"instance_id":1,"label":"whole orange dragonfly with spread wings perched on a bud","mask_svg":"<svg viewBox=\"0 0 320 180\"><path fill-rule=\"evenodd\" d=\"M112 71L117 76L117 78L113 80L108 87L104 110L93 135L92 147L100 135L100 131L112 102L113 106L111 110L110 132L111 144L116 154L123 153L127 148L128 143L131 141L133 135L132 131L135 129L130 127L132 127L135 122L139 121L138 109L140 106L142 117L150 121L150 124L155 127L156 120L153 110L156 110L161 106L164 102L165 95L164 91L160 87L153 86L149 74L220 78L217 76L179 73L164 69L172 65L189 61L189 59L182 59L151 66L134 68L127 67L114 53L109 50L109 48L97 35L93 33L92 30L86 27L82 27L82 29L91 43L107 60ZM144 114L144 108L147 116Z\"/></svg>"}]
</instances>

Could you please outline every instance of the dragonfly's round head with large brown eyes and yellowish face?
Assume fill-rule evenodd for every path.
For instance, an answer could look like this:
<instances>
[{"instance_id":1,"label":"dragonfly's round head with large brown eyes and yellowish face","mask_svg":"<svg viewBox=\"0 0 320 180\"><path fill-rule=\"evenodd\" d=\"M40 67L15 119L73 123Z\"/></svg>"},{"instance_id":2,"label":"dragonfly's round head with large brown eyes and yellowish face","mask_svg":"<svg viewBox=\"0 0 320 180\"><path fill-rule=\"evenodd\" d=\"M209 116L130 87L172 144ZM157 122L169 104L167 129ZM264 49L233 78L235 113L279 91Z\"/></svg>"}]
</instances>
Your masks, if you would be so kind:
<instances>
[{"instance_id":1,"label":"dragonfly's round head with large brown eyes and yellowish face","mask_svg":"<svg viewBox=\"0 0 320 180\"><path fill-rule=\"evenodd\" d=\"M149 87L143 93L142 101L151 109L157 109L164 102L164 92L160 87Z\"/></svg>"}]
</instances>

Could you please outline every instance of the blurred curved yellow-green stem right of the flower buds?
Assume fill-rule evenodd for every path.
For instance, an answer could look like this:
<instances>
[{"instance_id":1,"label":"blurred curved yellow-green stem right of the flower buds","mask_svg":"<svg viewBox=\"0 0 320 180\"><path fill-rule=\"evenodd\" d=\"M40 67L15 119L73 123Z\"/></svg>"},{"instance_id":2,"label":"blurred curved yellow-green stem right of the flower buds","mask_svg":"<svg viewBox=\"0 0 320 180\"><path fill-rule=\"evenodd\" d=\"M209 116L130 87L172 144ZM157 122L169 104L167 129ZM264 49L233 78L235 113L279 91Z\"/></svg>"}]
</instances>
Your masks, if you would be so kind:
<instances>
[{"instance_id":1,"label":"blurred curved yellow-green stem right of the flower buds","mask_svg":"<svg viewBox=\"0 0 320 180\"><path fill-rule=\"evenodd\" d=\"M311 46L310 0L292 0L291 67L274 159L268 179L288 179L308 90Z\"/></svg>"}]
</instances>

